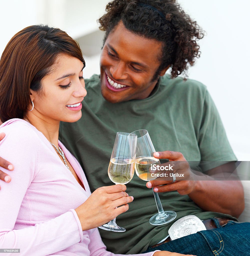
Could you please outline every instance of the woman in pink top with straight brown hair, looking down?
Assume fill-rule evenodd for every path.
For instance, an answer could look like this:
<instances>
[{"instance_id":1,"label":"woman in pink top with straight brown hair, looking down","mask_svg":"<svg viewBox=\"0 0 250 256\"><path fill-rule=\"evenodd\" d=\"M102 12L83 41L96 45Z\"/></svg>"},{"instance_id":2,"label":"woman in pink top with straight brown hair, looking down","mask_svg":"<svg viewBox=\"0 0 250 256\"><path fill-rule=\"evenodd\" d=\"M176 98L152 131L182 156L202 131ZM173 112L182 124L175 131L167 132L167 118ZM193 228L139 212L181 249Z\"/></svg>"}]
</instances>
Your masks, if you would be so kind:
<instances>
[{"instance_id":1,"label":"woman in pink top with straight brown hair, looking down","mask_svg":"<svg viewBox=\"0 0 250 256\"><path fill-rule=\"evenodd\" d=\"M60 121L81 118L84 66L77 43L48 26L21 30L3 52L0 132L7 143L0 148L3 157L15 155L16 171L1 192L0 248L20 248L20 255L111 255L96 227L127 211L133 197L125 185L91 195L81 166L58 141ZM145 255L153 254L181 255Z\"/></svg>"}]
</instances>

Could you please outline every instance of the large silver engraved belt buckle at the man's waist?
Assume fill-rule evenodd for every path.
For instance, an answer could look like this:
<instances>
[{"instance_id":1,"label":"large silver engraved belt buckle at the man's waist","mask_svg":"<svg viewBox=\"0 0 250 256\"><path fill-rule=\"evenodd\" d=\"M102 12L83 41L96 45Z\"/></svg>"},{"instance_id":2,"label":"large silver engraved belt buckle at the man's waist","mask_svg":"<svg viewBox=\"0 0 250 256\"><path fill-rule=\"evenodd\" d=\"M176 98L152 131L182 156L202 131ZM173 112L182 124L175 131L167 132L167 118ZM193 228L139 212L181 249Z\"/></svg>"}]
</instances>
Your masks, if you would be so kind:
<instances>
[{"instance_id":1,"label":"large silver engraved belt buckle at the man's waist","mask_svg":"<svg viewBox=\"0 0 250 256\"><path fill-rule=\"evenodd\" d=\"M171 240L195 234L198 231L207 230L203 222L195 215L182 217L169 228L168 234Z\"/></svg>"}]
</instances>

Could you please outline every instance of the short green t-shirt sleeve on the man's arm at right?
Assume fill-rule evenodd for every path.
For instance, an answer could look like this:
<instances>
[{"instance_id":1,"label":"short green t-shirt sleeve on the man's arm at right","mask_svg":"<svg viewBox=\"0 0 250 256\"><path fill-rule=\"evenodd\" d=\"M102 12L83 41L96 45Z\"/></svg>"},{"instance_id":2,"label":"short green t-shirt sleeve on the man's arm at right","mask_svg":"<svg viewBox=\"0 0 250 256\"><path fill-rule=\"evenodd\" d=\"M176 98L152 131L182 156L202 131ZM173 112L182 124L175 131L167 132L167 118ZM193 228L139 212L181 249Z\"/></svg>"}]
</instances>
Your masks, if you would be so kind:
<instances>
[{"instance_id":1,"label":"short green t-shirt sleeve on the man's arm at right","mask_svg":"<svg viewBox=\"0 0 250 256\"><path fill-rule=\"evenodd\" d=\"M226 162L237 161L229 144L218 110L206 90L198 134L201 169L207 171Z\"/></svg>"}]
</instances>

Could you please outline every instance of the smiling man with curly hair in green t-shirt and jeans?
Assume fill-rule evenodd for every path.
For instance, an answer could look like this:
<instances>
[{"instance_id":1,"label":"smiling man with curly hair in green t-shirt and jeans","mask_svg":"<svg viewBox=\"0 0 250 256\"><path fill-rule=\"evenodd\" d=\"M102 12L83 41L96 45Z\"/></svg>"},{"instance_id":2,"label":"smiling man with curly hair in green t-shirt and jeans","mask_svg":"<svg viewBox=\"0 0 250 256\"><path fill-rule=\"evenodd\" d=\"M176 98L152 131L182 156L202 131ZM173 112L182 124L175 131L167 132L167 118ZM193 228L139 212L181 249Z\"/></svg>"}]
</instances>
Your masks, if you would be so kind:
<instances>
[{"instance_id":1,"label":"smiling man with curly hair in green t-shirt and jeans","mask_svg":"<svg viewBox=\"0 0 250 256\"><path fill-rule=\"evenodd\" d=\"M206 87L177 78L199 57L196 41L203 34L196 22L174 0L115 0L107 5L107 14L99 22L106 31L100 76L85 81L88 95L83 101L82 119L62 123L60 127L60 140L83 166L90 189L112 184L107 168L118 131L148 130L158 152L155 157L182 163L214 161L213 166L203 166L205 174L230 172L236 157ZM168 68L173 79L165 75ZM3 167L9 164L2 161ZM186 171L191 177L190 169ZM151 187L164 192L160 193L163 208L176 211L176 219L196 215L207 220L207 229L215 231L167 242L168 229L174 221L162 226L149 223L157 212ZM127 193L134 197L134 202L117 218L118 225L127 231L100 230L107 249L114 253L138 253L153 247L219 255L223 246L223 252L229 250L225 255L232 255L230 252L236 251L235 247L228 249L232 239L238 248L244 247L244 252L249 248L249 243L235 231L237 226L249 238L248 224L231 221L244 209L240 181L154 180L146 187L145 182L134 176L127 185ZM216 228L225 223L225 228Z\"/></svg>"}]
</instances>

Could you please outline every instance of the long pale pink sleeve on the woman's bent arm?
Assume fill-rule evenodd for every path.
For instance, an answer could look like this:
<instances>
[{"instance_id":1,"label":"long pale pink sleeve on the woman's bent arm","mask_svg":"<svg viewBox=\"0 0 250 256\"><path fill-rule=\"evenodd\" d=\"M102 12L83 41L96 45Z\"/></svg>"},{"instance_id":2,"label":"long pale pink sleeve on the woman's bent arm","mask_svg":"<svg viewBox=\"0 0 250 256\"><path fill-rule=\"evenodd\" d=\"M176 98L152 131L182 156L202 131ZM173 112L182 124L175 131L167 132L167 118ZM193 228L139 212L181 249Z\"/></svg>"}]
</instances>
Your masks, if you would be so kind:
<instances>
[{"instance_id":1,"label":"long pale pink sleeve on the woman's bent arm","mask_svg":"<svg viewBox=\"0 0 250 256\"><path fill-rule=\"evenodd\" d=\"M0 248L20 249L19 255L48 255L61 251L83 239L79 220L73 209L44 223L14 229L22 200L33 178L39 172L40 139L25 124L10 124L0 129L1 157L15 169L10 183L1 183ZM1 170L5 171L3 168ZM6 255L11 255L6 254Z\"/></svg>"}]
</instances>

